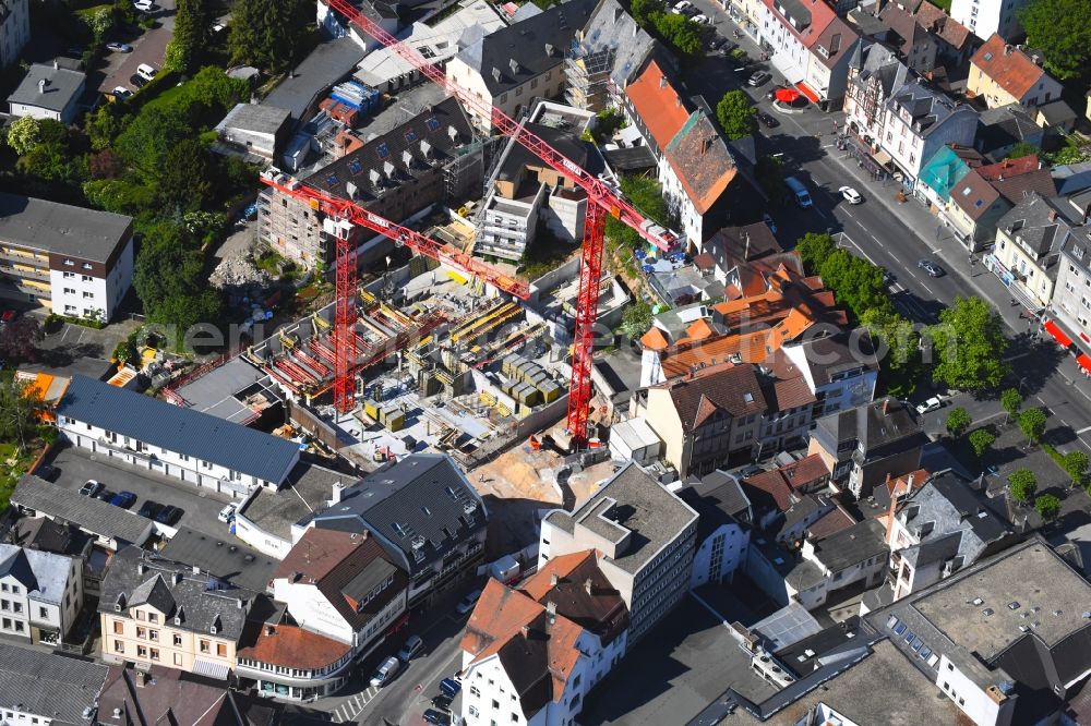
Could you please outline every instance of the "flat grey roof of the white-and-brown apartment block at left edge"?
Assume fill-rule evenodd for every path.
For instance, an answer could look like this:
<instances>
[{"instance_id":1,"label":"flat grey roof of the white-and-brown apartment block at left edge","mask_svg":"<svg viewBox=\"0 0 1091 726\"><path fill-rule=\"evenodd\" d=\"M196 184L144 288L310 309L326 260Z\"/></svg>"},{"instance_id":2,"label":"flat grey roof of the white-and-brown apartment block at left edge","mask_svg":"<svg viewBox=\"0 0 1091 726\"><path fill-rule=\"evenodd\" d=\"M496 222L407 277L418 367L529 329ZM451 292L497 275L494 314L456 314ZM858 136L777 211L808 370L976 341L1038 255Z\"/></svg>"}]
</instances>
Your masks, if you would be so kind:
<instances>
[{"instance_id":1,"label":"flat grey roof of the white-and-brown apartment block at left edge","mask_svg":"<svg viewBox=\"0 0 1091 726\"><path fill-rule=\"evenodd\" d=\"M0 193L0 240L105 263L130 237L132 217Z\"/></svg>"}]
</instances>

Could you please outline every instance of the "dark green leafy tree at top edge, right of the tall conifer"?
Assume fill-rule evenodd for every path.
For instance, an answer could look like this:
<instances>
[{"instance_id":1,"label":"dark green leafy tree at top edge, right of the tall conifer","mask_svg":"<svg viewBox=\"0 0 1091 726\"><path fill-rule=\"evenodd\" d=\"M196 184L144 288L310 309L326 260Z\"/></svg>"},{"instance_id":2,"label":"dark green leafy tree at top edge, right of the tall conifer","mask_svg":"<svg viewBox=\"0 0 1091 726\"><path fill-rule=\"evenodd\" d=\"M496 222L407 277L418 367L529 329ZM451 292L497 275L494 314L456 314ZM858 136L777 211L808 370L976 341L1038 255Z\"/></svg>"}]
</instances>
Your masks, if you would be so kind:
<instances>
[{"instance_id":1,"label":"dark green leafy tree at top edge, right of the tall conifer","mask_svg":"<svg viewBox=\"0 0 1091 726\"><path fill-rule=\"evenodd\" d=\"M307 0L236 0L227 39L231 62L287 70L313 23L314 5Z\"/></svg>"}]
</instances>

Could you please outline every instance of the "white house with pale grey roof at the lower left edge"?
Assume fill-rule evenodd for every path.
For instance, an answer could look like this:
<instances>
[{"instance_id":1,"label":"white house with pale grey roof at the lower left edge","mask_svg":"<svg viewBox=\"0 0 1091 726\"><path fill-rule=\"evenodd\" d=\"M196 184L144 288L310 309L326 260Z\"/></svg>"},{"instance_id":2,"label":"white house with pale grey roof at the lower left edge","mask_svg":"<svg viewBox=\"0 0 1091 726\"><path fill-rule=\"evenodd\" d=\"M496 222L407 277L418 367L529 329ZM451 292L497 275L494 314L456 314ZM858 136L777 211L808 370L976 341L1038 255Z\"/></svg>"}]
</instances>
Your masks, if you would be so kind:
<instances>
[{"instance_id":1,"label":"white house with pale grey roof at the lower left edge","mask_svg":"<svg viewBox=\"0 0 1091 726\"><path fill-rule=\"evenodd\" d=\"M83 609L83 559L0 544L0 633L60 645Z\"/></svg>"}]
</instances>

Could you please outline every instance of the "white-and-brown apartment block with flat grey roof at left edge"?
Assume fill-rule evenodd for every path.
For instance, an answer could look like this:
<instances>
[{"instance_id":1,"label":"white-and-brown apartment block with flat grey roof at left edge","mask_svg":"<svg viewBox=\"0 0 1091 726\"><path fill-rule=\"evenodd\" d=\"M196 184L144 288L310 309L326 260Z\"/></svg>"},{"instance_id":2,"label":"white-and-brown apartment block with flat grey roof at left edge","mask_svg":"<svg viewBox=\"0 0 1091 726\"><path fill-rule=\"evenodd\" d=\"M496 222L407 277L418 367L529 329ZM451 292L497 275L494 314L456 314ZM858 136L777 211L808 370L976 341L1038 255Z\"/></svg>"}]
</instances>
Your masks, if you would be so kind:
<instances>
[{"instance_id":1,"label":"white-and-brown apartment block with flat grey roof at left edge","mask_svg":"<svg viewBox=\"0 0 1091 726\"><path fill-rule=\"evenodd\" d=\"M0 298L109 320L132 277L131 217L0 193Z\"/></svg>"}]
</instances>

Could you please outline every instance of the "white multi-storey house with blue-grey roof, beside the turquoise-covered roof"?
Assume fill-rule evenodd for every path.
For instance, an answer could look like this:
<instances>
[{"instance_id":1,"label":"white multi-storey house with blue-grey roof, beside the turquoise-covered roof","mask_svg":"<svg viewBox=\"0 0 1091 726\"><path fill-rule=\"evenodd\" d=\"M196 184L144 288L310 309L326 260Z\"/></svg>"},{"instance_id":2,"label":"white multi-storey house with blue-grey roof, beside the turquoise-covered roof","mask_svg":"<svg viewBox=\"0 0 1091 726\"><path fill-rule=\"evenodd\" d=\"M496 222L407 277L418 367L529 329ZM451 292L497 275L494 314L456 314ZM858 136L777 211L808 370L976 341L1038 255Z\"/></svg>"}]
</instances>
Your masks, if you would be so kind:
<instances>
[{"instance_id":1,"label":"white multi-storey house with blue-grey roof, beside the turquoise-covered roof","mask_svg":"<svg viewBox=\"0 0 1091 726\"><path fill-rule=\"evenodd\" d=\"M912 187L927 159L948 144L970 146L978 113L922 81L907 82L886 101L880 146Z\"/></svg>"}]
</instances>

